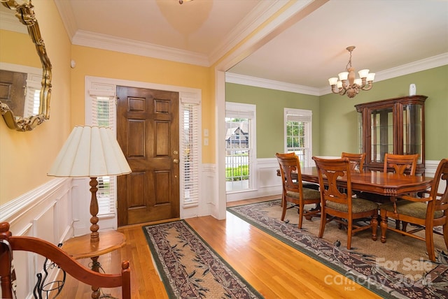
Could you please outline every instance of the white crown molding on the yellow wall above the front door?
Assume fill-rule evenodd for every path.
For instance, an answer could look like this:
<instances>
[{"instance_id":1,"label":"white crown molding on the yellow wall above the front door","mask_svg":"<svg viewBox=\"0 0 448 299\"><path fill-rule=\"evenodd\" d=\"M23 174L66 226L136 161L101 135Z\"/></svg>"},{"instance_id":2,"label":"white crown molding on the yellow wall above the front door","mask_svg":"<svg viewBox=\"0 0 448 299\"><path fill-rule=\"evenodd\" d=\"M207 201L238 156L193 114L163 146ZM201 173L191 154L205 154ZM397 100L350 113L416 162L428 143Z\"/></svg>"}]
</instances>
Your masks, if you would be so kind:
<instances>
[{"instance_id":1,"label":"white crown molding on the yellow wall above the front door","mask_svg":"<svg viewBox=\"0 0 448 299\"><path fill-rule=\"evenodd\" d=\"M72 43L73 45L178 61L197 66L209 66L209 60L204 54L162 47L151 43L142 43L127 38L117 38L106 34L96 34L89 31L76 31L72 38Z\"/></svg>"}]
</instances>

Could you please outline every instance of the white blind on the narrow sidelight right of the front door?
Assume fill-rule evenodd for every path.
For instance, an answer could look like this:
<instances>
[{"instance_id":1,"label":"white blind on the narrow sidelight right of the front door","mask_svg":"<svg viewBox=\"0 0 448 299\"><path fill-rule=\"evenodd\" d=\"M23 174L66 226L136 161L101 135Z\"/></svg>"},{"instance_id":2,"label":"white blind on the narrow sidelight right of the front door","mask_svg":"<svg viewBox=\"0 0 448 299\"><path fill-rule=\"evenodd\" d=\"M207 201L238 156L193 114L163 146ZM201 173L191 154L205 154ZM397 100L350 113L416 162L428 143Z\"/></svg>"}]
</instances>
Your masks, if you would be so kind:
<instances>
[{"instance_id":1,"label":"white blind on the narrow sidelight right of the front door","mask_svg":"<svg viewBox=\"0 0 448 299\"><path fill-rule=\"evenodd\" d=\"M197 205L200 194L200 101L181 97L181 196Z\"/></svg>"}]
</instances>

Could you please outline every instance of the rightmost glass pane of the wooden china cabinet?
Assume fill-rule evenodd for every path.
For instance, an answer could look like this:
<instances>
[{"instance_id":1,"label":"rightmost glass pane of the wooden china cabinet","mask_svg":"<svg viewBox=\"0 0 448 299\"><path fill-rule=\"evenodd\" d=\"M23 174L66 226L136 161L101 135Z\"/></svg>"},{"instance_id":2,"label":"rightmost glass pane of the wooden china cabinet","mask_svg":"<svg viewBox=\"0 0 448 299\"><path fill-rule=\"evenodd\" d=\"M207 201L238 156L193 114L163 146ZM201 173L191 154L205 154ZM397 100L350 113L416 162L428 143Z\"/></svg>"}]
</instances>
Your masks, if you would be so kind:
<instances>
[{"instance_id":1,"label":"rightmost glass pane of the wooden china cabinet","mask_svg":"<svg viewBox=\"0 0 448 299\"><path fill-rule=\"evenodd\" d=\"M423 105L403 105L403 154L419 154L421 163L423 152Z\"/></svg>"}]
</instances>

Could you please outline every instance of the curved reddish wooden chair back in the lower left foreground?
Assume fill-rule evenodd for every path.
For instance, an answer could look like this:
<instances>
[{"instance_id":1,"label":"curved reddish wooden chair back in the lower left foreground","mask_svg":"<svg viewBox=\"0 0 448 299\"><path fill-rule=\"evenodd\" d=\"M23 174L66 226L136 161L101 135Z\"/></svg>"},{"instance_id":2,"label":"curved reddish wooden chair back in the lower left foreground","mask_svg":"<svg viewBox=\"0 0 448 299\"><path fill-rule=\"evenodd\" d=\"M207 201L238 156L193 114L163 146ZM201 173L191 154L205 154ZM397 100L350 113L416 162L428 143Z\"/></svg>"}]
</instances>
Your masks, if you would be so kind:
<instances>
[{"instance_id":1,"label":"curved reddish wooden chair back in the lower left foreground","mask_svg":"<svg viewBox=\"0 0 448 299\"><path fill-rule=\"evenodd\" d=\"M13 297L13 270L11 262L13 258L13 251L31 251L41 256L45 256L52 262L57 264L69 275L78 279L80 282L95 288L115 288L121 286L122 298L131 298L131 275L129 262L123 261L121 265L121 273L116 275L107 275L99 272L94 272L85 268L65 253L59 247L52 245L50 242L33 237L15 237L9 231L8 222L0 223L0 277L1 277L1 298L15 298ZM99 296L99 292L96 294ZM94 294L92 293L92 298Z\"/></svg>"}]
</instances>

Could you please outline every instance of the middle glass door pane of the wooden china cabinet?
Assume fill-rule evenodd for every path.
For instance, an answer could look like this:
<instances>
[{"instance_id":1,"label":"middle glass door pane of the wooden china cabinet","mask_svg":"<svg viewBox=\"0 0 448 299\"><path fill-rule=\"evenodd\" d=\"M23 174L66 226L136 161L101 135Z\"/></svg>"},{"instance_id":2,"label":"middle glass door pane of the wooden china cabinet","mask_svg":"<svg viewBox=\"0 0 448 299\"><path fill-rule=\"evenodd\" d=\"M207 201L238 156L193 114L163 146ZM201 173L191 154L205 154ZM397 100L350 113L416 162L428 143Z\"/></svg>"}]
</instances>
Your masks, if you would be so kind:
<instances>
[{"instance_id":1,"label":"middle glass door pane of the wooden china cabinet","mask_svg":"<svg viewBox=\"0 0 448 299\"><path fill-rule=\"evenodd\" d=\"M384 154L393 153L393 108L370 111L372 138L370 161L384 162Z\"/></svg>"}]
</instances>

